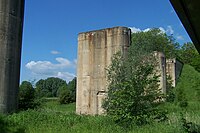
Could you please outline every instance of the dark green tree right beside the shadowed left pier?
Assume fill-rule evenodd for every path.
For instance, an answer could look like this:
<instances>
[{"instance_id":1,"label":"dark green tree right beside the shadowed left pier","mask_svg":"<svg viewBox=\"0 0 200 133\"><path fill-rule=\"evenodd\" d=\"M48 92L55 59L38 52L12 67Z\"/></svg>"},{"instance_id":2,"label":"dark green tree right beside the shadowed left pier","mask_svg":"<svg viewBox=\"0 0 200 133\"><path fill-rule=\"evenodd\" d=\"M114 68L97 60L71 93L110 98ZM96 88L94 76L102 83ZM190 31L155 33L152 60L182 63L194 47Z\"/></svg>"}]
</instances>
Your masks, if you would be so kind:
<instances>
[{"instance_id":1,"label":"dark green tree right beside the shadowed left pier","mask_svg":"<svg viewBox=\"0 0 200 133\"><path fill-rule=\"evenodd\" d=\"M19 87L19 109L34 108L35 95L32 84L28 81L23 81Z\"/></svg>"}]
</instances>

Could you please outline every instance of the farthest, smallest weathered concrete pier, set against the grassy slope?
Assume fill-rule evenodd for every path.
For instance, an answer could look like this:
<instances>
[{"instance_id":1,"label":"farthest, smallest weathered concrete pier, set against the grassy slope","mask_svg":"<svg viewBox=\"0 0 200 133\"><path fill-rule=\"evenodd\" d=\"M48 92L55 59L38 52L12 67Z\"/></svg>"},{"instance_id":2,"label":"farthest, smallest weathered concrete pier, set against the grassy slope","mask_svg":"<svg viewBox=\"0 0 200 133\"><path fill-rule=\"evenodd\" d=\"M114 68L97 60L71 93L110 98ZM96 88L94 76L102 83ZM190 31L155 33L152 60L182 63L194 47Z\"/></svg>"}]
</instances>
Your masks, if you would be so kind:
<instances>
[{"instance_id":1,"label":"farthest, smallest weathered concrete pier, set against the grassy slope","mask_svg":"<svg viewBox=\"0 0 200 133\"><path fill-rule=\"evenodd\" d=\"M166 73L170 76L172 80L172 86L175 87L181 71L183 68L183 63L176 58L166 60Z\"/></svg>"}]
</instances>

